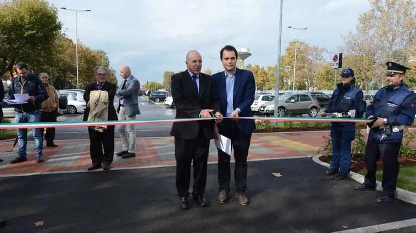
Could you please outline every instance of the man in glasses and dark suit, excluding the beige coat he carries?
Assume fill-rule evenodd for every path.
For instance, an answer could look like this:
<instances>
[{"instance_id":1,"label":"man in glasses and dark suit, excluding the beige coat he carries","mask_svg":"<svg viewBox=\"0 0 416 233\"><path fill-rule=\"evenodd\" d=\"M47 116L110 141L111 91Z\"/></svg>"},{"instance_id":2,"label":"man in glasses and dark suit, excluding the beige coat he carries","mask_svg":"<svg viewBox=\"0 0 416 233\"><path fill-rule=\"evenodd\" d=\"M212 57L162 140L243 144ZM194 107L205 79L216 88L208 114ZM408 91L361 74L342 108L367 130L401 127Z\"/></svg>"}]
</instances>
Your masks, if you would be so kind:
<instances>
[{"instance_id":1,"label":"man in glasses and dark suit, excluding the beige coat he carries","mask_svg":"<svg viewBox=\"0 0 416 233\"><path fill-rule=\"evenodd\" d=\"M85 87L84 100L88 103L90 101L90 93L95 90L102 90L108 92L108 121L117 121L117 113L114 108L114 96L117 86L107 82L107 69L104 67L96 67L94 69L96 82L91 83ZM88 121L90 114L90 107L85 108L83 121ZM94 127L88 127L88 135L90 138L90 155L92 166L88 170L95 170L102 167L103 170L110 170L111 163L114 157L114 125L107 126L107 129L102 132L97 131ZM104 149L104 153L103 153Z\"/></svg>"}]
</instances>

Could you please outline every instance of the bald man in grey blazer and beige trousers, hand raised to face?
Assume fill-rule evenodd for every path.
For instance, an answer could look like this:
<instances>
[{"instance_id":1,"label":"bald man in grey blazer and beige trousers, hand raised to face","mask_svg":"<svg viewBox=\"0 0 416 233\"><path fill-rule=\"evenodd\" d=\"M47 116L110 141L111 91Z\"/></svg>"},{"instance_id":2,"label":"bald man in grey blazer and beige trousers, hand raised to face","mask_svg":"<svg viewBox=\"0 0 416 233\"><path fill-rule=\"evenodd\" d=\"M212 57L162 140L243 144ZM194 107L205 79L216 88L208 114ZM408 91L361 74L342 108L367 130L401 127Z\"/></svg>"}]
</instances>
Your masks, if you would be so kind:
<instances>
[{"instance_id":1,"label":"bald man in grey blazer and beige trousers, hand raised to face","mask_svg":"<svg viewBox=\"0 0 416 233\"><path fill-rule=\"evenodd\" d=\"M118 119L133 120L136 115L140 115L138 109L138 92L140 90L140 82L131 75L130 67L124 65L120 68L120 76L123 79L121 87L117 90L116 96L120 99L118 104ZM136 130L134 125L121 125L118 128L121 137L122 151L116 153L123 159L136 156Z\"/></svg>"}]
</instances>

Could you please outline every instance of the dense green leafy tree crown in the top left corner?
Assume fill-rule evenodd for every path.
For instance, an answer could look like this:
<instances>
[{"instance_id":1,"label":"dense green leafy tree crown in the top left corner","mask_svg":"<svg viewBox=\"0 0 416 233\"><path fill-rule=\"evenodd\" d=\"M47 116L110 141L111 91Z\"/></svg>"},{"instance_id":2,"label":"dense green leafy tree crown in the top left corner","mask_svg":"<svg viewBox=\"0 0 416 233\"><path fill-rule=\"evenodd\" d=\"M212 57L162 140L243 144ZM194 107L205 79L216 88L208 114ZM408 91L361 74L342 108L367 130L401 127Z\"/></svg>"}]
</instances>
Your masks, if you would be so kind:
<instances>
[{"instance_id":1,"label":"dense green leafy tree crown in the top left corner","mask_svg":"<svg viewBox=\"0 0 416 233\"><path fill-rule=\"evenodd\" d=\"M42 66L53 54L53 43L62 28L57 9L44 0L0 2L0 76L16 62Z\"/></svg>"}]
</instances>

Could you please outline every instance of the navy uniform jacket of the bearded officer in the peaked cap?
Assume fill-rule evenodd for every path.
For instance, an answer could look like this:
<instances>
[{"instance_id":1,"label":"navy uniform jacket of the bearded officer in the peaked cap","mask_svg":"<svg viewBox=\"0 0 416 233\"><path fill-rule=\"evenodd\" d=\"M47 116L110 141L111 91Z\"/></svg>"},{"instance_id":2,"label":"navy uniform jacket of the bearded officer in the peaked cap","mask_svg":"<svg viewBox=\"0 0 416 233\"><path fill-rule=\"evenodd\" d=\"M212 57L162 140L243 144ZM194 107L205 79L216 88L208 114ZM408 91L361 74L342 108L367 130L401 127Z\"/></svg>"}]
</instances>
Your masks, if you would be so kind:
<instances>
[{"instance_id":1,"label":"navy uniform jacket of the bearded officer in the peaked cap","mask_svg":"<svg viewBox=\"0 0 416 233\"><path fill-rule=\"evenodd\" d=\"M385 125L391 128L390 135L385 133L385 125L370 128L368 140L381 143L401 143L405 125L414 122L416 114L416 93L400 82L397 86L383 87L374 95L373 102L367 106L366 117L387 119Z\"/></svg>"}]
</instances>

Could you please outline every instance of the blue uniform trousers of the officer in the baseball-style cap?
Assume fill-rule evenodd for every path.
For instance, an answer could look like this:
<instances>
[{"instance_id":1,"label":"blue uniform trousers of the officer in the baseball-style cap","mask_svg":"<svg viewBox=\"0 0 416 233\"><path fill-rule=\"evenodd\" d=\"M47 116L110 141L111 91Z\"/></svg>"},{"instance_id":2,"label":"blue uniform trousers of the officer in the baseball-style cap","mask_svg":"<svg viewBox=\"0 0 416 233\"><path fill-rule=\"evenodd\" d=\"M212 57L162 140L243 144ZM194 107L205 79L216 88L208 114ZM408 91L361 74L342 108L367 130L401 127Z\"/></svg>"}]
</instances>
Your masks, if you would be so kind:
<instances>
[{"instance_id":1,"label":"blue uniform trousers of the officer in the baseball-style cap","mask_svg":"<svg viewBox=\"0 0 416 233\"><path fill-rule=\"evenodd\" d=\"M332 161L331 167L339 169L342 173L350 172L351 142L355 137L355 127L332 124Z\"/></svg>"}]
</instances>

